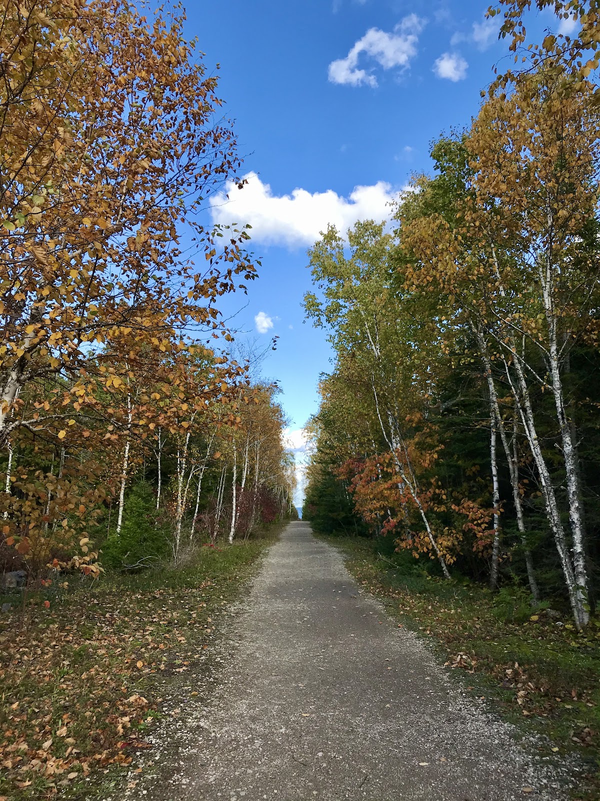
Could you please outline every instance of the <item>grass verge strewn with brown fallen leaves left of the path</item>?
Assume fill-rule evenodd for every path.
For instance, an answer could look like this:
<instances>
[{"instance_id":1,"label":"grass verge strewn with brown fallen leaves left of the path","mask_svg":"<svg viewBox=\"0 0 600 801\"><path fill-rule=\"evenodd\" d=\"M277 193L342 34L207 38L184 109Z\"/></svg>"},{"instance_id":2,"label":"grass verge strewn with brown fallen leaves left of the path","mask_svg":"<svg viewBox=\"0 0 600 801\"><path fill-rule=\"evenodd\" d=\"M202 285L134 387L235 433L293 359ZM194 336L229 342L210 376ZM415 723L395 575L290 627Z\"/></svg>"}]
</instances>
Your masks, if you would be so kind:
<instances>
[{"instance_id":1,"label":"grass verge strewn with brown fallen leaves left of the path","mask_svg":"<svg viewBox=\"0 0 600 801\"><path fill-rule=\"evenodd\" d=\"M130 770L165 682L206 658L222 607L277 534L202 547L178 569L52 586L3 614L0 801L89 799Z\"/></svg>"}]
</instances>

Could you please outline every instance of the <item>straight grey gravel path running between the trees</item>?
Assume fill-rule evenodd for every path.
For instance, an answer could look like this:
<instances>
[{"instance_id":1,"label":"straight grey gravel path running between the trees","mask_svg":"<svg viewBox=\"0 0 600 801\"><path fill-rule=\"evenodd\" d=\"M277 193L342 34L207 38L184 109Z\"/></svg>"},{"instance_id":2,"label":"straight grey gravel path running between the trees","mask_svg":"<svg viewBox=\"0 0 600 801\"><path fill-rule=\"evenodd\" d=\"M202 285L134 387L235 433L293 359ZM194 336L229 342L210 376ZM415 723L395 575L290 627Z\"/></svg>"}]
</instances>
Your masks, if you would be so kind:
<instances>
[{"instance_id":1,"label":"straight grey gravel path running between the trees","mask_svg":"<svg viewBox=\"0 0 600 801\"><path fill-rule=\"evenodd\" d=\"M155 735L156 801L566 799L566 767L462 695L427 646L290 523L234 616L208 706ZM232 650L233 649L233 650ZM570 768L574 771L574 767ZM146 771L144 771L146 774Z\"/></svg>"}]
</instances>

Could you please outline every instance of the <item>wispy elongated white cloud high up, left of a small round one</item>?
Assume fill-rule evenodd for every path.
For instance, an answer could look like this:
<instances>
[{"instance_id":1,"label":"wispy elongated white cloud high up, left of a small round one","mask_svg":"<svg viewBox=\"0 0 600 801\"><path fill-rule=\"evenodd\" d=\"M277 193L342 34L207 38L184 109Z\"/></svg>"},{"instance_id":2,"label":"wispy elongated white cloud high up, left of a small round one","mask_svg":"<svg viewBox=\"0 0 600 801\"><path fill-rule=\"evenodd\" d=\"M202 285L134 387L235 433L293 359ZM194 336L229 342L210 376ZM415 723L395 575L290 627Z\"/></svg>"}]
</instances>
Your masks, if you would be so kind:
<instances>
[{"instance_id":1,"label":"wispy elongated white cloud high up, left of a small round one","mask_svg":"<svg viewBox=\"0 0 600 801\"><path fill-rule=\"evenodd\" d=\"M418 18L417 14L409 14L390 34L379 28L370 28L354 43L346 58L338 58L330 63L330 82L350 87L359 87L366 83L370 87L376 87L377 78L366 70L358 69L359 56L364 53L374 58L384 70L390 70L394 66L404 69L417 54L418 34L424 24L424 20Z\"/></svg>"}]
</instances>

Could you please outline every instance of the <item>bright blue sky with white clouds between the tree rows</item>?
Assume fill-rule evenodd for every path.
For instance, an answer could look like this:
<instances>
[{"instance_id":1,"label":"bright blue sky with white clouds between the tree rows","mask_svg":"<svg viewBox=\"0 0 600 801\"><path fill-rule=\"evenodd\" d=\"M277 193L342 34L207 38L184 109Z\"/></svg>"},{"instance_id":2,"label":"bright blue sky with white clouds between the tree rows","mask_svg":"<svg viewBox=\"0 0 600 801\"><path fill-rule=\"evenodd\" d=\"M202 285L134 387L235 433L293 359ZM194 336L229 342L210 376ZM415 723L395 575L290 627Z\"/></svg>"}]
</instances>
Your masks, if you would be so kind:
<instances>
[{"instance_id":1,"label":"bright blue sky with white clouds between the tree rows","mask_svg":"<svg viewBox=\"0 0 600 801\"><path fill-rule=\"evenodd\" d=\"M428 147L465 127L494 64L508 66L498 23L478 0L218 0L189 2L186 33L235 120L242 174L210 210L253 225L262 260L247 296L222 308L247 338L278 347L263 366L277 379L294 445L318 408L330 368L324 332L303 323L310 289L306 249L327 223L383 219L413 171L430 171ZM552 25L550 14L534 29ZM566 23L563 23L563 26ZM554 25L558 28L558 25ZM244 338L242 336L242 339Z\"/></svg>"}]
</instances>

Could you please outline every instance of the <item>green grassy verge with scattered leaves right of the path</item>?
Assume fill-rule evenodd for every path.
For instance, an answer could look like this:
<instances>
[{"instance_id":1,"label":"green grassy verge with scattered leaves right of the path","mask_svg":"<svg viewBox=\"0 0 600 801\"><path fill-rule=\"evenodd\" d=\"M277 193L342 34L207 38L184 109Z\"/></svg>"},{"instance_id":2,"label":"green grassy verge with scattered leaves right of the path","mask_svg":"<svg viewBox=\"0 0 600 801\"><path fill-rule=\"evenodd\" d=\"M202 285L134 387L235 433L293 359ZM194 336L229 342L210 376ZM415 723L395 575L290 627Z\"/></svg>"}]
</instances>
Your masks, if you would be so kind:
<instances>
[{"instance_id":1,"label":"green grassy verge with scattered leaves right of the path","mask_svg":"<svg viewBox=\"0 0 600 801\"><path fill-rule=\"evenodd\" d=\"M578 799L600 799L600 621L578 634L549 604L532 609L509 587L493 594L468 581L444 581L409 553L380 554L382 543L324 537L346 554L346 566L387 610L441 649L505 718L546 735L548 752L577 751L590 765ZM386 545L389 551L389 545ZM466 674L466 675L465 675Z\"/></svg>"}]
</instances>

